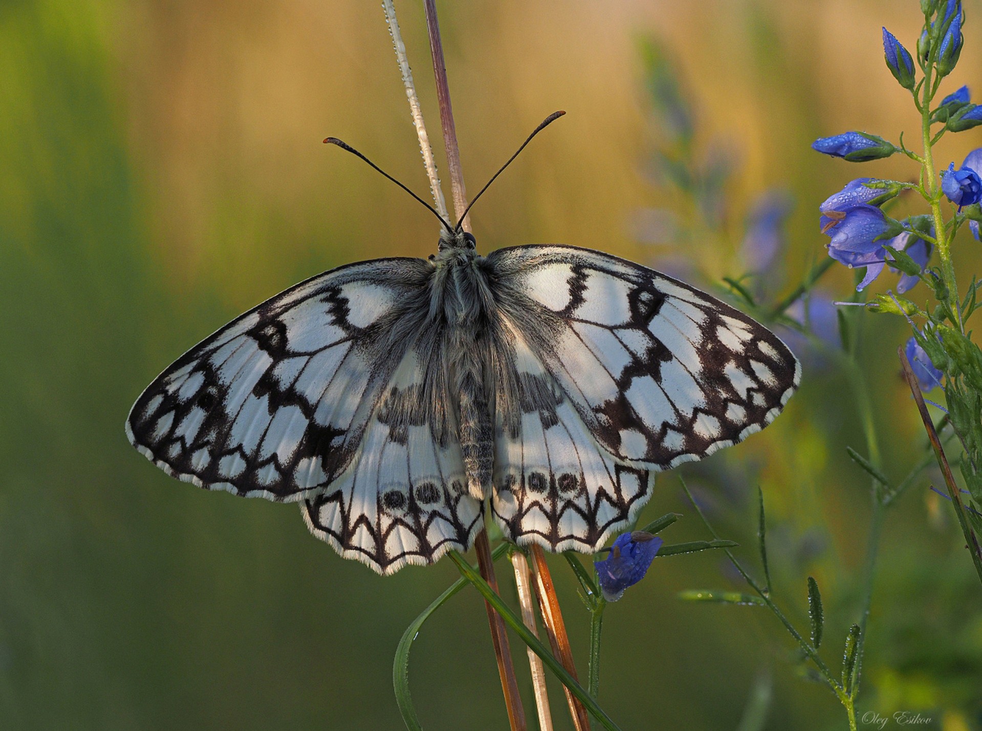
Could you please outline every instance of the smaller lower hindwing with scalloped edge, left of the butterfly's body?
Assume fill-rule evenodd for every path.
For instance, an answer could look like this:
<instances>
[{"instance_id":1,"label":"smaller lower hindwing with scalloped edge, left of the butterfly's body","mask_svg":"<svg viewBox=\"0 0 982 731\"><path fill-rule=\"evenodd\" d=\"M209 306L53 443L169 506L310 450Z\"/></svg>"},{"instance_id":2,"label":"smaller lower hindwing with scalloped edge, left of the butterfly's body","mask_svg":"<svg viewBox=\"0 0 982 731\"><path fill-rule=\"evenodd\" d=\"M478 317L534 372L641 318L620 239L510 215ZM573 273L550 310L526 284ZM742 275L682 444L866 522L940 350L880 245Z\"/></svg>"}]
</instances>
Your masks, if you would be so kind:
<instances>
[{"instance_id":1,"label":"smaller lower hindwing with scalloped edge, left of the butterfly's body","mask_svg":"<svg viewBox=\"0 0 982 731\"><path fill-rule=\"evenodd\" d=\"M301 503L310 531L379 573L465 550L483 526L467 493L438 333L426 328L383 389L348 469Z\"/></svg>"}]
</instances>

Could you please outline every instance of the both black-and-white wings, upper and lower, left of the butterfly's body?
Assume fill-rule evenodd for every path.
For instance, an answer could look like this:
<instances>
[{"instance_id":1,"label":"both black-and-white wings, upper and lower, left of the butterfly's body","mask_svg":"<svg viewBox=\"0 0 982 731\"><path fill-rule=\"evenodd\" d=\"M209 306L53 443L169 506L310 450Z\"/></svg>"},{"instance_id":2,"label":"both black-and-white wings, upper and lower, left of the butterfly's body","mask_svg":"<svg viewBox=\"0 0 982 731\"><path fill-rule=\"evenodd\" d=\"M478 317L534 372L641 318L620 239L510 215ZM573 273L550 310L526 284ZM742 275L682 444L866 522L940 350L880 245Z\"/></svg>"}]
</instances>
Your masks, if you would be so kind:
<instances>
[{"instance_id":1,"label":"both black-and-white wings, upper and lower, left of the butterfly's body","mask_svg":"<svg viewBox=\"0 0 982 731\"><path fill-rule=\"evenodd\" d=\"M466 548L481 507L453 492L464 479L456 431L429 412L407 422L399 411L420 371L411 348L431 272L420 259L381 259L276 295L158 376L137 398L127 436L185 482L303 499L316 535L382 573ZM376 469L369 489L365 474L378 465L385 479ZM336 490L317 492L327 486Z\"/></svg>"}]
</instances>

